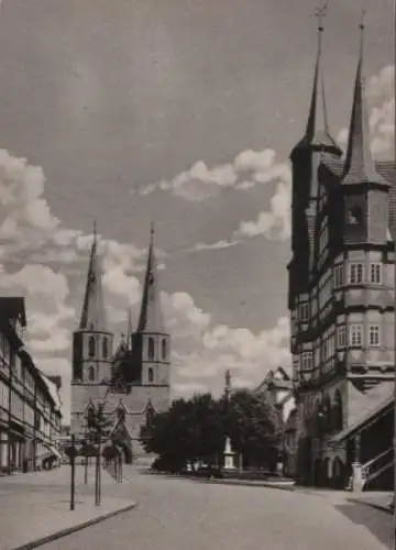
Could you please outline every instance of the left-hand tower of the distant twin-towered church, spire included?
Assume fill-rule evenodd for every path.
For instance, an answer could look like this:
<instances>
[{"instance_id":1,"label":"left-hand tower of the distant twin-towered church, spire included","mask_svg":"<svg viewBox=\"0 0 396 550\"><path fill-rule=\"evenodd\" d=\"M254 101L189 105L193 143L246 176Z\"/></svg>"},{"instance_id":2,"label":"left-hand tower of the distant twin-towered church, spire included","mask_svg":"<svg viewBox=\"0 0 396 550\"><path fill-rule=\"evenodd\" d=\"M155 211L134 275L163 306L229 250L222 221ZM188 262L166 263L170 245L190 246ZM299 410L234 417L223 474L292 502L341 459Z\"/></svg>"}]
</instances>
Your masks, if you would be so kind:
<instances>
[{"instance_id":1,"label":"left-hand tower of the distant twin-towered church, spire included","mask_svg":"<svg viewBox=\"0 0 396 550\"><path fill-rule=\"evenodd\" d=\"M94 227L86 290L78 330L73 333L72 431L79 431L89 399L106 392L111 378L113 334L107 328L101 262Z\"/></svg>"}]
</instances>

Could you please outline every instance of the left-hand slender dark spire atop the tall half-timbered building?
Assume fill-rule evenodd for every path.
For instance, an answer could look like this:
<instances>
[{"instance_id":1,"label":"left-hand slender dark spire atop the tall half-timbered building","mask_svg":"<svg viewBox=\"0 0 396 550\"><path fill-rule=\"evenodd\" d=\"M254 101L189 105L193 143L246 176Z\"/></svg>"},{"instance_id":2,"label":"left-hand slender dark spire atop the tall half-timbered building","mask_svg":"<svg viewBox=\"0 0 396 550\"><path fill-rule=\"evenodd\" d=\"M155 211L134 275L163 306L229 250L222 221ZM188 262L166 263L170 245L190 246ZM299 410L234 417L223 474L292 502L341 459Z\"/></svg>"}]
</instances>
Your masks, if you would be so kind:
<instances>
[{"instance_id":1,"label":"left-hand slender dark spire atop the tall half-timbered building","mask_svg":"<svg viewBox=\"0 0 396 550\"><path fill-rule=\"evenodd\" d=\"M321 66L323 19L327 2L317 8L315 15L318 18L318 51L315 64L314 86L309 107L307 128L302 140L297 147L312 147L316 151L328 151L341 155L341 150L329 132L329 122L324 95L324 78Z\"/></svg>"}]
</instances>

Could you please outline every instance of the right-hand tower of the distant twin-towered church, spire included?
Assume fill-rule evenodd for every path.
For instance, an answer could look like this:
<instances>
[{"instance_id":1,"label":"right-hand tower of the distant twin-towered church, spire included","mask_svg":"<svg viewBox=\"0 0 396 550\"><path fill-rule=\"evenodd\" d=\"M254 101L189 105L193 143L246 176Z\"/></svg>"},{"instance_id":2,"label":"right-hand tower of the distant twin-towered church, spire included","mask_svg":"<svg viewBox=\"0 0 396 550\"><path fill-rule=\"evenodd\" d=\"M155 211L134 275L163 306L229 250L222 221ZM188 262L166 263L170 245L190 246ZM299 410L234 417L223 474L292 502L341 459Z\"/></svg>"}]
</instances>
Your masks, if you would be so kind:
<instances>
[{"instance_id":1,"label":"right-hand tower of the distant twin-towered church, spire included","mask_svg":"<svg viewBox=\"0 0 396 550\"><path fill-rule=\"evenodd\" d=\"M165 395L169 395L170 336L165 330L161 307L153 224L139 322L136 331L132 333L132 355L140 384L158 389L162 387L163 402ZM157 394L158 391L152 393L153 396Z\"/></svg>"}]
</instances>

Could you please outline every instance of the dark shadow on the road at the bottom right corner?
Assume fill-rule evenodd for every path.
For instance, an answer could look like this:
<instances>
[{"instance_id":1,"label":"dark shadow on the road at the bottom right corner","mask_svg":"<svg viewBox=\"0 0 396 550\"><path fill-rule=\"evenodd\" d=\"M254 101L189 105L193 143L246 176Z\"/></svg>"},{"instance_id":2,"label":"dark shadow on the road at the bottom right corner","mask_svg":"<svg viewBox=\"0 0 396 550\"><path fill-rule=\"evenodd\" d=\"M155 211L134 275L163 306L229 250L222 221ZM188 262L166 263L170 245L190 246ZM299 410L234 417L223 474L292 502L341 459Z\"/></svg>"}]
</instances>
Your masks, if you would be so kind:
<instances>
[{"instance_id":1,"label":"dark shadow on the road at the bottom right corner","mask_svg":"<svg viewBox=\"0 0 396 550\"><path fill-rule=\"evenodd\" d=\"M392 517L383 510L349 501L334 508L356 525L366 527L386 548L393 549Z\"/></svg>"}]
</instances>

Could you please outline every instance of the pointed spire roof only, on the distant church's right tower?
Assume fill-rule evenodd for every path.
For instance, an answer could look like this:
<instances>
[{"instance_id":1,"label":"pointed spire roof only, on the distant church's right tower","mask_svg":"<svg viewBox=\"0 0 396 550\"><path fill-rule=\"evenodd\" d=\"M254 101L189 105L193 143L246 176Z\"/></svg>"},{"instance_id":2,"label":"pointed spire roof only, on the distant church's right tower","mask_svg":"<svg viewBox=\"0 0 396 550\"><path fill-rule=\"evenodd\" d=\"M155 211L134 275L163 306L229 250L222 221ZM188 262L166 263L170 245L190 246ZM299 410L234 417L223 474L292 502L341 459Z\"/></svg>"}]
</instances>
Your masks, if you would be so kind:
<instances>
[{"instance_id":1,"label":"pointed spire roof only, on the distant church's right tower","mask_svg":"<svg viewBox=\"0 0 396 550\"><path fill-rule=\"evenodd\" d=\"M165 333L157 278L158 275L154 255L154 223L152 222L138 332Z\"/></svg>"}]
</instances>

